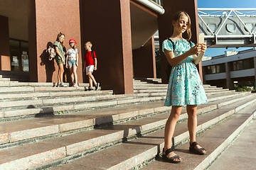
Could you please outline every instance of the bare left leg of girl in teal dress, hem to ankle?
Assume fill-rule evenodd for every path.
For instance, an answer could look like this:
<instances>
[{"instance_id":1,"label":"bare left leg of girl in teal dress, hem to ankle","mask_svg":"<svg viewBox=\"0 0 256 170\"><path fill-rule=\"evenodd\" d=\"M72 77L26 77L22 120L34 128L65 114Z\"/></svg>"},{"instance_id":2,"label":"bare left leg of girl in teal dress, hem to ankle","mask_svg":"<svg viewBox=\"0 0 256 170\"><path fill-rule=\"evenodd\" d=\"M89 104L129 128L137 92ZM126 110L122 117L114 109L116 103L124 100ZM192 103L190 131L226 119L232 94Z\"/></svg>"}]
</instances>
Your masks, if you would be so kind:
<instances>
[{"instance_id":1,"label":"bare left leg of girl in teal dress, hem to ankle","mask_svg":"<svg viewBox=\"0 0 256 170\"><path fill-rule=\"evenodd\" d=\"M181 110L182 106L171 106L171 114L164 129L164 150L171 148L171 138L174 135L174 129L181 115Z\"/></svg>"}]
</instances>

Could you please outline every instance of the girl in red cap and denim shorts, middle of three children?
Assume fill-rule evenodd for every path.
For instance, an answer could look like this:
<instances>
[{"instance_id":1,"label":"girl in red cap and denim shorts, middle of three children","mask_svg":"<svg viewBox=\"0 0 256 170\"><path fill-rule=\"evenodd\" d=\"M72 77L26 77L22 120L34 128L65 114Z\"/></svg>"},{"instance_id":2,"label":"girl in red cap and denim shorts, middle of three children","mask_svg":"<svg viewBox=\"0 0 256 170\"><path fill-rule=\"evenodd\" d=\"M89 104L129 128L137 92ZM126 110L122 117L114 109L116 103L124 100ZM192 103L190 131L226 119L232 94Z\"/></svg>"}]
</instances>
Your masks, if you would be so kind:
<instances>
[{"instance_id":1,"label":"girl in red cap and denim shorts, middle of three children","mask_svg":"<svg viewBox=\"0 0 256 170\"><path fill-rule=\"evenodd\" d=\"M71 38L69 40L69 49L66 52L66 67L70 69L72 86L78 86L78 74L76 72L78 67L78 48L75 45L75 39Z\"/></svg>"}]
</instances>

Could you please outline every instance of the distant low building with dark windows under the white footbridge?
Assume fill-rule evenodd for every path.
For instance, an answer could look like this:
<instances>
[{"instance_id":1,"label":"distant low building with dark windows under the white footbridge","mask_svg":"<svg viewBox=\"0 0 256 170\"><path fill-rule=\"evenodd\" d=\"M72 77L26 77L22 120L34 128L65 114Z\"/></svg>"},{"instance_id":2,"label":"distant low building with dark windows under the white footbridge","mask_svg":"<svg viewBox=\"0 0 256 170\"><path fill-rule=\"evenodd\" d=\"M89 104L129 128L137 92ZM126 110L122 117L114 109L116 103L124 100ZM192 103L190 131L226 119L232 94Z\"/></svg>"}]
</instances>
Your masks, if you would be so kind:
<instances>
[{"instance_id":1,"label":"distant low building with dark windows under the white footbridge","mask_svg":"<svg viewBox=\"0 0 256 170\"><path fill-rule=\"evenodd\" d=\"M225 55L203 61L202 66L205 84L234 89L234 82L256 80L256 48L226 51Z\"/></svg>"}]
</instances>

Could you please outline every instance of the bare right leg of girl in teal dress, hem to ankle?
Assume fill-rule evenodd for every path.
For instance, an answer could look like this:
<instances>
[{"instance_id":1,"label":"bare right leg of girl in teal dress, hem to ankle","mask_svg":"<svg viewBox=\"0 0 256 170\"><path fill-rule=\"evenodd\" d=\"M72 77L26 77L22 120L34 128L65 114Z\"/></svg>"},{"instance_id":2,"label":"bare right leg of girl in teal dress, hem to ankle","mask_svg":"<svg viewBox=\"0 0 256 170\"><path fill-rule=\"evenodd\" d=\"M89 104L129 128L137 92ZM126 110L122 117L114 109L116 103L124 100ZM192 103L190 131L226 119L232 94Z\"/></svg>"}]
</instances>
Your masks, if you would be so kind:
<instances>
[{"instance_id":1,"label":"bare right leg of girl in teal dress, hem to ankle","mask_svg":"<svg viewBox=\"0 0 256 170\"><path fill-rule=\"evenodd\" d=\"M190 142L196 142L196 127L197 127L197 117L196 117L196 105L187 105L186 111L188 113L188 132Z\"/></svg>"}]
</instances>

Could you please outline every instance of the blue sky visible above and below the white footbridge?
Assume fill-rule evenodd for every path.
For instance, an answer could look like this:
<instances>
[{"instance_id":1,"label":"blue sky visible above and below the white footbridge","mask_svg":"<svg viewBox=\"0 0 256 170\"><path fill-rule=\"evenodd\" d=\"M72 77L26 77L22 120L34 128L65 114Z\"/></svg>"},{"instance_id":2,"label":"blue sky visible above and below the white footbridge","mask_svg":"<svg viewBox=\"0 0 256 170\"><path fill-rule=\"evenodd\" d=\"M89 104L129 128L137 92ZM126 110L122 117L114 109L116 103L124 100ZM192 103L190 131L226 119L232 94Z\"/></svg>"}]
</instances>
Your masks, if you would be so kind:
<instances>
[{"instance_id":1,"label":"blue sky visible above and below the white footbridge","mask_svg":"<svg viewBox=\"0 0 256 170\"><path fill-rule=\"evenodd\" d=\"M197 0L198 8L256 8L256 0ZM240 47L238 49L228 48L228 50L246 50L248 48ZM224 55L225 48L208 48L206 55L210 57Z\"/></svg>"}]
</instances>

